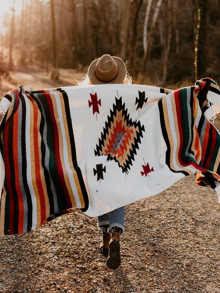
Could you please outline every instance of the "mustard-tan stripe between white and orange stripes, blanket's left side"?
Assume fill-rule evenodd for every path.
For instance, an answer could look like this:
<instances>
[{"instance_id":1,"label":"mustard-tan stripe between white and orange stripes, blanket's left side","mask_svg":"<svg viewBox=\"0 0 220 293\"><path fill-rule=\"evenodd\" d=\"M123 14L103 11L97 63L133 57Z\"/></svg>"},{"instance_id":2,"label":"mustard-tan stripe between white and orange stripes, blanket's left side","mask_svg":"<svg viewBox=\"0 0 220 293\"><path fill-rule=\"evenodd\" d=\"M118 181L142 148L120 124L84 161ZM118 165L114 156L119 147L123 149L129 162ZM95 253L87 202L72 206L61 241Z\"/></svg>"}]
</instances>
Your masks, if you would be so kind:
<instances>
[{"instance_id":1,"label":"mustard-tan stripe between white and orange stripes, blanket's left side","mask_svg":"<svg viewBox=\"0 0 220 293\"><path fill-rule=\"evenodd\" d=\"M33 120L33 105L31 103L31 96L28 95L28 102L30 105L30 148L31 148L31 179L32 179L32 185L35 193L35 198L36 198L36 205L37 205L37 224L36 228L39 227L40 225L40 220L41 220L41 214L40 214L40 197L39 197L39 192L37 188L37 183L36 183L36 173L35 173L35 156L34 156L34 150L33 150L33 141L34 141L34 120Z\"/></svg>"}]
</instances>

